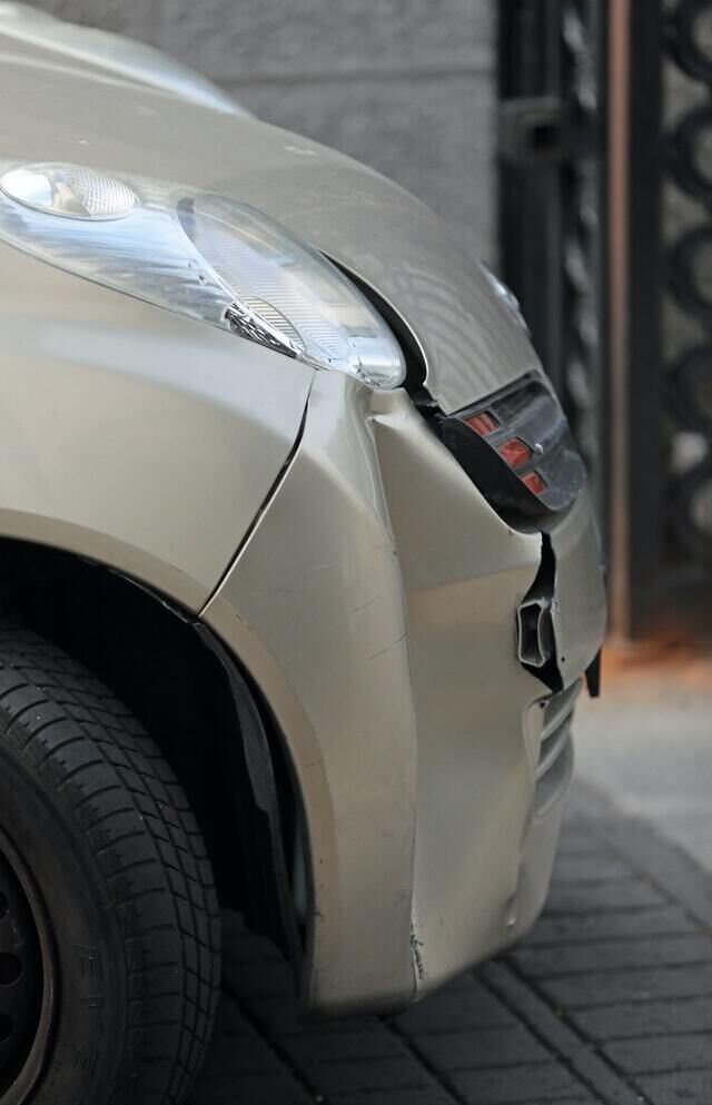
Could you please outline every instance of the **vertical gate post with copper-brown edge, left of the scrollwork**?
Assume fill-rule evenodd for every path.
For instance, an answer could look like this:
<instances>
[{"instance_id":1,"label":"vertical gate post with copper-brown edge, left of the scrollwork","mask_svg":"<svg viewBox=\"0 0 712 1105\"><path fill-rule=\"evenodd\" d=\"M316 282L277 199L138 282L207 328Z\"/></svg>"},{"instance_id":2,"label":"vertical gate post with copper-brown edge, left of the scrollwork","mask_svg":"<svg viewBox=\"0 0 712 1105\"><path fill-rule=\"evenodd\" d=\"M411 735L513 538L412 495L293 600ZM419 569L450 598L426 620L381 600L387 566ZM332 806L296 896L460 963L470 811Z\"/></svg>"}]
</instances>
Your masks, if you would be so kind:
<instances>
[{"instance_id":1,"label":"vertical gate post with copper-brown edge, left of the scrollwork","mask_svg":"<svg viewBox=\"0 0 712 1105\"><path fill-rule=\"evenodd\" d=\"M661 3L615 0L610 24L612 616L660 616L662 547Z\"/></svg>"}]
</instances>

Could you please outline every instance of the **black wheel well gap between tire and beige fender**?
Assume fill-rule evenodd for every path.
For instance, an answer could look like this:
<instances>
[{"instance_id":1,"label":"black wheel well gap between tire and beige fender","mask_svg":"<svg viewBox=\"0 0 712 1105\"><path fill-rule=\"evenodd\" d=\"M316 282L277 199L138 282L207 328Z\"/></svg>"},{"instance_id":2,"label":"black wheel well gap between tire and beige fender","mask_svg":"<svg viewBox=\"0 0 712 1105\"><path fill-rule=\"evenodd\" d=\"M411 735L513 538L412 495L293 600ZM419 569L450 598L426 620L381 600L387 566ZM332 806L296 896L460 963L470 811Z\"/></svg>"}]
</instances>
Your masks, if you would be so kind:
<instances>
[{"instance_id":1,"label":"black wheel well gap between tire and beige fender","mask_svg":"<svg viewBox=\"0 0 712 1105\"><path fill-rule=\"evenodd\" d=\"M298 802L266 703L207 628L132 580L72 553L0 540L0 602L22 624L89 668L136 714L178 776L204 833L224 906L294 955L284 856L294 855ZM228 664L235 664L234 672ZM281 857L246 758L247 687L271 761ZM254 714L256 717L256 714ZM266 738L266 742L265 739ZM287 885L285 885L285 882Z\"/></svg>"}]
</instances>

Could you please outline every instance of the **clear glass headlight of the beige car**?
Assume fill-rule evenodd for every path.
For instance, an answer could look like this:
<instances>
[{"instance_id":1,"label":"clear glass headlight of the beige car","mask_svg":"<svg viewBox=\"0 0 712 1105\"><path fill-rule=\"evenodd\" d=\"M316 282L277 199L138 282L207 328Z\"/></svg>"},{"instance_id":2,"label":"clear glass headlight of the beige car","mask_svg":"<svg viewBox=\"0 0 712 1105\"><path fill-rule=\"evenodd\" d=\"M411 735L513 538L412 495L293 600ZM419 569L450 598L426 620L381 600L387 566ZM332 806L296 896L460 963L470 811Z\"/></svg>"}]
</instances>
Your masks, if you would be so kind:
<instances>
[{"instance_id":1,"label":"clear glass headlight of the beige car","mask_svg":"<svg viewBox=\"0 0 712 1105\"><path fill-rule=\"evenodd\" d=\"M0 238L69 273L377 387L405 378L364 295L279 223L77 165L0 167Z\"/></svg>"}]
</instances>

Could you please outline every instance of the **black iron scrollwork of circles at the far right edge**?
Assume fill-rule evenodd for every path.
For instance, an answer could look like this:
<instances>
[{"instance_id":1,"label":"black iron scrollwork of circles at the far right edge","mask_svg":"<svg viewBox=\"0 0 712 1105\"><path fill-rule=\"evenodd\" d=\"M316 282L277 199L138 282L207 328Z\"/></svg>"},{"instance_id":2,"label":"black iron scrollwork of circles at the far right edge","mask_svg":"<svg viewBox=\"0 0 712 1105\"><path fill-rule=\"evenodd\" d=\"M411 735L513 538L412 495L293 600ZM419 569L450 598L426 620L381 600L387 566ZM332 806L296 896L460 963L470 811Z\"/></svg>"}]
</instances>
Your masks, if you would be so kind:
<instances>
[{"instance_id":1,"label":"black iron scrollwork of circles at the far right edge","mask_svg":"<svg viewBox=\"0 0 712 1105\"><path fill-rule=\"evenodd\" d=\"M681 342L670 329L664 336L666 555L675 570L694 573L712 562L712 4L681 0L665 30L674 67L666 107L674 112L683 98L692 101L666 137L666 172L678 189L666 203L684 206L689 224L675 228L666 251L668 289L684 334Z\"/></svg>"}]
</instances>

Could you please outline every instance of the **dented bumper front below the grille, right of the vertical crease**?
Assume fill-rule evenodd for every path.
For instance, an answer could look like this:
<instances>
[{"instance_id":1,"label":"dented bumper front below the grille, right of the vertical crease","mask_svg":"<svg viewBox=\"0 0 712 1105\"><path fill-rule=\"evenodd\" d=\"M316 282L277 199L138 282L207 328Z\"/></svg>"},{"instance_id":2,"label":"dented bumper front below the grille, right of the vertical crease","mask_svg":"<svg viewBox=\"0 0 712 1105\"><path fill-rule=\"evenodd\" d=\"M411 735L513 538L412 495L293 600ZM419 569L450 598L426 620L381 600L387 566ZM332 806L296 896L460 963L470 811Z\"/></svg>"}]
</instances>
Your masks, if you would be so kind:
<instances>
[{"instance_id":1,"label":"dented bumper front below the grille, right of the vertical crease","mask_svg":"<svg viewBox=\"0 0 712 1105\"><path fill-rule=\"evenodd\" d=\"M541 535L492 511L402 394L376 402L409 627L414 921L426 991L502 947L512 927L534 789L524 723L544 690L518 663L515 613Z\"/></svg>"}]
</instances>

